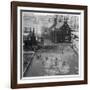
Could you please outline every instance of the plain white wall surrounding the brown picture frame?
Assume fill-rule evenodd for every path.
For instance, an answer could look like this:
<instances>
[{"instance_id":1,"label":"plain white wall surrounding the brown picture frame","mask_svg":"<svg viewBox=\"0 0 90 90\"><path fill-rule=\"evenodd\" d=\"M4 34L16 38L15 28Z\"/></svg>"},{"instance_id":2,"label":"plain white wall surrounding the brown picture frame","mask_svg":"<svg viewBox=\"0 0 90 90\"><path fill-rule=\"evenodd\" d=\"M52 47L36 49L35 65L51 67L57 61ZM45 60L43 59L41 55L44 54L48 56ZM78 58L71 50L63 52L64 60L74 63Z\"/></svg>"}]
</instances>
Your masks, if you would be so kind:
<instances>
[{"instance_id":1,"label":"plain white wall surrounding the brown picture frame","mask_svg":"<svg viewBox=\"0 0 90 90\"><path fill-rule=\"evenodd\" d=\"M10 90L10 1L0 0L0 90ZM36 2L37 0L30 1ZM38 2L88 5L88 16L90 16L90 0L38 0ZM90 23L90 17L88 17L88 23ZM90 38L89 29L90 26L88 26L88 38ZM88 46L90 46L90 41L88 41ZM90 53L90 47L88 48L88 53ZM90 56L88 56L89 59ZM88 61L88 64L90 64L90 61ZM88 65L88 68L90 68L90 65ZM88 76L90 76L90 70L88 70ZM90 77L88 82L88 85L32 88L32 90L90 90Z\"/></svg>"}]
</instances>

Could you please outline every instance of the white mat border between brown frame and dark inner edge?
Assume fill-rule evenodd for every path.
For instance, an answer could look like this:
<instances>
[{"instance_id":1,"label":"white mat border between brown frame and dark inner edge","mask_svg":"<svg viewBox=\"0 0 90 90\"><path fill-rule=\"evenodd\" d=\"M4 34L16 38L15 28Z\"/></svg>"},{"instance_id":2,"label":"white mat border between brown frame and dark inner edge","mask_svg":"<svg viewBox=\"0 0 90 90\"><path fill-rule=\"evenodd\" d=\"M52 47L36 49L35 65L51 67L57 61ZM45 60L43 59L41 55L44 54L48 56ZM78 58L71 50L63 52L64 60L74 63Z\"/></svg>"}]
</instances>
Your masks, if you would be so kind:
<instances>
[{"instance_id":1,"label":"white mat border between brown frame and dark inner edge","mask_svg":"<svg viewBox=\"0 0 90 90\"><path fill-rule=\"evenodd\" d=\"M43 76L30 77L20 79L20 10L43 10L57 12L80 12L80 28L79 28L79 75L60 75L60 76ZM62 81L77 81L84 80L84 11L71 9L51 9L51 8L35 8L35 7L18 7L17 8L17 83L42 83L42 82L62 82Z\"/></svg>"}]
</instances>

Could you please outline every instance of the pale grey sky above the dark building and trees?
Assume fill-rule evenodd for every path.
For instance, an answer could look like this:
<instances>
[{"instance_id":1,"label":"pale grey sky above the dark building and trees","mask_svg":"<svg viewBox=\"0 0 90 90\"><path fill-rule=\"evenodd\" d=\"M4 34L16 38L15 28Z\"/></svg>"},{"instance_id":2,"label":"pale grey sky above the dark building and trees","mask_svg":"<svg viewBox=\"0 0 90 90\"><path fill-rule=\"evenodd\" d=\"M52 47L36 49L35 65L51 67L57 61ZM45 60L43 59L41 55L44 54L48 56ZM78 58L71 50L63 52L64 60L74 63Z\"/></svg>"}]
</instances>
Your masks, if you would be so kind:
<instances>
[{"instance_id":1,"label":"pale grey sky above the dark building and trees","mask_svg":"<svg viewBox=\"0 0 90 90\"><path fill-rule=\"evenodd\" d=\"M57 23L56 28L59 28L62 25L64 17L68 18L68 24L71 28L74 27L74 25L79 25L79 17L77 15L23 12L23 30L24 27L28 27L28 30L30 30L30 28L33 30L34 27L35 33L41 36L44 27L50 28L53 25L56 15L58 15L57 20L59 22Z\"/></svg>"}]
</instances>

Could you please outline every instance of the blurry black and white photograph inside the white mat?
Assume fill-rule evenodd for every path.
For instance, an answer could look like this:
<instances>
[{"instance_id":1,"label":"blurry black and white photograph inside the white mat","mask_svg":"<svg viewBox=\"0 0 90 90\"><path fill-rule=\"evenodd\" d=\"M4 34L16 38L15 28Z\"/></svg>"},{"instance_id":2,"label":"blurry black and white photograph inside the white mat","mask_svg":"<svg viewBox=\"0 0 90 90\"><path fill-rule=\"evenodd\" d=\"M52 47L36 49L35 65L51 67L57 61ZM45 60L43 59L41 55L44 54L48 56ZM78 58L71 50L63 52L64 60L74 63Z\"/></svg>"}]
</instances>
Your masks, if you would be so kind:
<instances>
[{"instance_id":1,"label":"blurry black and white photograph inside the white mat","mask_svg":"<svg viewBox=\"0 0 90 90\"><path fill-rule=\"evenodd\" d=\"M78 75L80 13L21 12L22 76Z\"/></svg>"}]
</instances>

